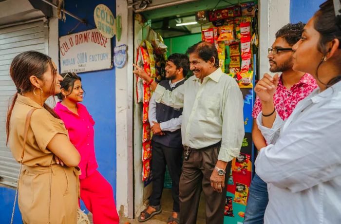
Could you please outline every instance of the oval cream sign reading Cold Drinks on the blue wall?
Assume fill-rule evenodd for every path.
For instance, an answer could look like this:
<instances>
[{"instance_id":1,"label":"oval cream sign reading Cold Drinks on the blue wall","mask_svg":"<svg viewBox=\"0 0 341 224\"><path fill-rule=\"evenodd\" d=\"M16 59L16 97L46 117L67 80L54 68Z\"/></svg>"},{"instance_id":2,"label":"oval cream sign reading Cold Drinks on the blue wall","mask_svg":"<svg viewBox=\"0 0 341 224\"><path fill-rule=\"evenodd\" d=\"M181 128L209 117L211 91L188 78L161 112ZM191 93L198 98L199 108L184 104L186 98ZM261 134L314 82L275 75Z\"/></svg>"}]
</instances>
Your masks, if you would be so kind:
<instances>
[{"instance_id":1,"label":"oval cream sign reading Cold Drinks on the blue wall","mask_svg":"<svg viewBox=\"0 0 341 224\"><path fill-rule=\"evenodd\" d=\"M104 37L112 38L116 33L115 18L111 10L103 4L96 6L94 11L95 24Z\"/></svg>"}]
</instances>

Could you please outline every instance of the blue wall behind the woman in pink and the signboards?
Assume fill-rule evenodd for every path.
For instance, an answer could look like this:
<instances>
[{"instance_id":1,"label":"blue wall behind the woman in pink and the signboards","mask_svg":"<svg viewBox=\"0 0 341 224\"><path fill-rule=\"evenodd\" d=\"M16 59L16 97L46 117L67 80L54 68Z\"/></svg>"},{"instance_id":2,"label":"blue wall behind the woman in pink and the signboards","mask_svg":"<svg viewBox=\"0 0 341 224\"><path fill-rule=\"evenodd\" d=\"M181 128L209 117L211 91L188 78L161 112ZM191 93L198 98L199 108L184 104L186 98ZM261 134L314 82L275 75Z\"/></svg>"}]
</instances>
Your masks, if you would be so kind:
<instances>
[{"instance_id":1,"label":"blue wall behind the woman in pink and the signboards","mask_svg":"<svg viewBox=\"0 0 341 224\"><path fill-rule=\"evenodd\" d=\"M94 9L98 4L108 6L115 16L115 0L67 0L65 9L82 19L83 23L72 32L77 33L95 28ZM59 37L68 35L78 20L66 15L66 21L59 20ZM114 49L115 38L112 38ZM83 104L93 116L95 124L95 152L98 171L113 186L116 195L116 121L115 121L115 69L80 73L86 92ZM115 197L116 198L116 197ZM82 209L85 209L82 204Z\"/></svg>"}]
</instances>

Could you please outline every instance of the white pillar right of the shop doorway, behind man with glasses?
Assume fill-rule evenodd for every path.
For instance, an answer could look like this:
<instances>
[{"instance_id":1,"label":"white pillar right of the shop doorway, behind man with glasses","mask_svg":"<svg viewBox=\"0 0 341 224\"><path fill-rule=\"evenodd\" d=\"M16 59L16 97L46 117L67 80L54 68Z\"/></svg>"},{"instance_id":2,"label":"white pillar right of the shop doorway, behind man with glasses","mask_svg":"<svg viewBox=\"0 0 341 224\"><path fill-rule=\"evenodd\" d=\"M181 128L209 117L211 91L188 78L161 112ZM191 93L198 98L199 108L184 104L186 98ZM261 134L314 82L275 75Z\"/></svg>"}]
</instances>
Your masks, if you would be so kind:
<instances>
[{"instance_id":1,"label":"white pillar right of the shop doorway, behind man with glasses","mask_svg":"<svg viewBox=\"0 0 341 224\"><path fill-rule=\"evenodd\" d=\"M260 0L259 14L259 73L263 77L270 73L267 49L275 41L276 32L290 21L290 0Z\"/></svg>"}]
</instances>

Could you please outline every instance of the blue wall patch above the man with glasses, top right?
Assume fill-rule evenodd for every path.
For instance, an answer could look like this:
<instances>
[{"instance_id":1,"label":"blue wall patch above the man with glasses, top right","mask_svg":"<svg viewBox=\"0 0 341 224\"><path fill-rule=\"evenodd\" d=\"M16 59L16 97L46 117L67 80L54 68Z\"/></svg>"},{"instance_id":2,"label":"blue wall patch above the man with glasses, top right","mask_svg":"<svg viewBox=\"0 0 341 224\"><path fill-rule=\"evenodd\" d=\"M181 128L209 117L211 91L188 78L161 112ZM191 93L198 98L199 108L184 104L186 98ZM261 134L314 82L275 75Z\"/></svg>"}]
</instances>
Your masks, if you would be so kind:
<instances>
[{"instance_id":1,"label":"blue wall patch above the man with glasses, top right","mask_svg":"<svg viewBox=\"0 0 341 224\"><path fill-rule=\"evenodd\" d=\"M290 22L306 23L325 0L290 0Z\"/></svg>"}]
</instances>

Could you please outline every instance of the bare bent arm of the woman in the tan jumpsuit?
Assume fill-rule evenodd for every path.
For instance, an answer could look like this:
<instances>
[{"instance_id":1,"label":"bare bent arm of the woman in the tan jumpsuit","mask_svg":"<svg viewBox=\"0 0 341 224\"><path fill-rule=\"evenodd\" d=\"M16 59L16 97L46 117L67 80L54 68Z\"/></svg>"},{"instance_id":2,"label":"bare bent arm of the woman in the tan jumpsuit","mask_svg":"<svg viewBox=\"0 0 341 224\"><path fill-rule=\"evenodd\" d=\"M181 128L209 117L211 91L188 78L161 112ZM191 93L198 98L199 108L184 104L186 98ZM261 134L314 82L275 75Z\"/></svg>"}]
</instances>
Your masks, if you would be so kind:
<instances>
[{"instance_id":1,"label":"bare bent arm of the woman in the tan jumpsuit","mask_svg":"<svg viewBox=\"0 0 341 224\"><path fill-rule=\"evenodd\" d=\"M78 166L80 161L79 152L71 144L67 135L57 133L47 144L47 148L57 155L66 166Z\"/></svg>"}]
</instances>

